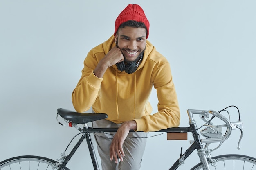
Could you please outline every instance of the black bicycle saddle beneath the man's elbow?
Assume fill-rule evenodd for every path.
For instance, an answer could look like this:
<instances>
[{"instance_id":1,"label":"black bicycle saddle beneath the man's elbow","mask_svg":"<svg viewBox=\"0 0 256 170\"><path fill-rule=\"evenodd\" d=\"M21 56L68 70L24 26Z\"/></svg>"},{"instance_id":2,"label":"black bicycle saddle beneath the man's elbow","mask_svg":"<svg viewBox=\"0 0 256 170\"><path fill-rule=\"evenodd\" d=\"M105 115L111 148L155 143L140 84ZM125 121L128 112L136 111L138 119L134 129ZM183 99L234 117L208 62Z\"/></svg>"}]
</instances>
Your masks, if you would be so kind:
<instances>
[{"instance_id":1,"label":"black bicycle saddle beneath the man's elbow","mask_svg":"<svg viewBox=\"0 0 256 170\"><path fill-rule=\"evenodd\" d=\"M63 108L58 108L57 114L59 114L62 118L76 124L85 124L88 122L108 118L106 113L77 113Z\"/></svg>"}]
</instances>

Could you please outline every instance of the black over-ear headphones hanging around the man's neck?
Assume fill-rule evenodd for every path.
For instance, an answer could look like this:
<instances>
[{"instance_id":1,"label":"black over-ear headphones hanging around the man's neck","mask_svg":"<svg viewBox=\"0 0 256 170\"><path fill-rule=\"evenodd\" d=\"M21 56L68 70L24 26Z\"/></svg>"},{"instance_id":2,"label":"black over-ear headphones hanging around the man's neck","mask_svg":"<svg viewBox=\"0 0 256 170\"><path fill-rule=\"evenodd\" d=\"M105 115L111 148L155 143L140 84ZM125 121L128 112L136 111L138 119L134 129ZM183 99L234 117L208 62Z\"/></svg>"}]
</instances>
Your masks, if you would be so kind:
<instances>
[{"instance_id":1,"label":"black over-ear headphones hanging around the man's neck","mask_svg":"<svg viewBox=\"0 0 256 170\"><path fill-rule=\"evenodd\" d=\"M143 58L143 54L141 55L141 57L139 57L138 63L137 63L137 61L127 63L126 65L124 64L124 61L122 61L120 63L116 63L117 69L121 72L125 71L128 74L134 73L137 70L137 68L139 67L139 64L140 64L142 58Z\"/></svg>"}]
</instances>

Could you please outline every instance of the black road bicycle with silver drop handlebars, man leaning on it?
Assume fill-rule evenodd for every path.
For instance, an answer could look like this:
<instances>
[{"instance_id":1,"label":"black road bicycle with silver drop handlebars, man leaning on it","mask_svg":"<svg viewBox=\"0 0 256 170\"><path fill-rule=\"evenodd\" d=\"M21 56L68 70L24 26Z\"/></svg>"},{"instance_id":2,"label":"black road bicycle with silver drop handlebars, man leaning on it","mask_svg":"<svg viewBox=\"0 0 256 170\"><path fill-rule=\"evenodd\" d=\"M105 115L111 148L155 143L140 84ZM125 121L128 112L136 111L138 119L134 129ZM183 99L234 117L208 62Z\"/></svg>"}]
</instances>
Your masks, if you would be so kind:
<instances>
[{"instance_id":1,"label":"black road bicycle with silver drop handlebars, man leaning on it","mask_svg":"<svg viewBox=\"0 0 256 170\"><path fill-rule=\"evenodd\" d=\"M236 107L236 106L229 106L229 107ZM173 127L168 129L162 129L157 132L163 132L167 133L167 136L173 136L172 134L178 135L181 134L181 138L184 137L184 134L186 133L192 133L194 140L191 141L191 146L184 152L180 153L180 158L177 159L177 161L171 166L169 170L176 170L178 167L180 167L182 164L184 164L184 161L187 157L194 151L197 150L198 157L200 159L200 163L196 164L191 168L191 170L211 170L211 168L215 170L231 170L231 169L243 169L243 170L253 170L256 169L256 158L249 157L246 155L238 155L238 154L229 154L229 155L219 155L215 157L211 157L211 152L214 150L220 148L222 143L227 140L230 135L231 131L235 129L240 129L241 135L240 139L238 141L238 149L240 149L240 142L243 137L243 123L240 120L240 113L238 108L238 115L239 119L237 122L230 122L229 119L227 119L225 116L221 114L222 111L226 111L228 114L229 112L226 110L227 108L222 109L221 111L213 111L213 110L193 110L189 109L187 110L188 116L189 116L189 127ZM202 126L199 128L197 127L196 121L193 118L194 115L199 115L200 118L205 122ZM61 153L61 157L57 159L57 161L54 161L52 159L46 158L46 157L39 157L39 156L19 156L19 157L13 157L10 159L6 159L2 162L0 162L0 170L23 170L23 169L29 169L34 170L32 168L35 168L37 170L47 170L47 169L58 169L58 170L69 170L69 168L66 167L68 161L71 159L71 157L74 155L76 150L79 148L81 143L84 139L87 141L89 153L92 159L92 164L94 167L94 170L99 170L99 165L97 163L96 154L94 151L94 147L92 145L92 138L91 133L110 133L110 132L116 132L117 128L92 128L88 126L89 122L93 122L96 120L105 119L108 117L105 113L77 113L73 112L67 109L59 108L57 109L57 120L58 116L61 116L64 118L65 122L69 124L69 126L75 127L77 130L79 130L79 134L81 134L81 137L79 141L76 143L74 148L70 151L68 155L65 155L65 152L67 148L69 147L72 140L79 134L75 135L71 142L68 144L66 150ZM210 118L211 116L211 118ZM225 124L221 125L214 125L212 120L213 118L219 118ZM63 123L58 122L59 124L63 125ZM80 127L80 125L82 127ZM224 135L222 135L222 128L226 128L226 132ZM199 133L199 129L202 129ZM135 131L131 131L136 133ZM200 135L201 134L201 135ZM205 137L205 138L202 138ZM176 139L180 138L179 135ZM214 149L209 149L209 145L211 143L219 143L219 145Z\"/></svg>"}]
</instances>

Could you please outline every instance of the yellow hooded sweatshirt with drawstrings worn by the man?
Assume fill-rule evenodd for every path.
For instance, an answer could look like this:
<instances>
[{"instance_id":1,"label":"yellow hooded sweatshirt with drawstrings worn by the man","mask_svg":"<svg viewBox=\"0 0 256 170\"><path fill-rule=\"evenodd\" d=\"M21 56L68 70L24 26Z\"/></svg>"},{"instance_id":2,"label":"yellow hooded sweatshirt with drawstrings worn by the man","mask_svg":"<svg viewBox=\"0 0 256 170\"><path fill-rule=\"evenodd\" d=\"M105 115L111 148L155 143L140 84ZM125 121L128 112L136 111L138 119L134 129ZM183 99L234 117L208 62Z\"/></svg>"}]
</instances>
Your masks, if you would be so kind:
<instances>
[{"instance_id":1,"label":"yellow hooded sweatshirt with drawstrings worn by the man","mask_svg":"<svg viewBox=\"0 0 256 170\"><path fill-rule=\"evenodd\" d=\"M99 61L115 46L114 36L88 52L82 76L72 93L77 112L92 106L96 113L108 114L115 123L135 120L136 131L158 131L180 124L180 110L172 80L171 68L165 57L147 41L144 57L132 74L120 72L116 65L108 68L103 78L94 75ZM148 102L152 87L157 91L158 112L151 114Z\"/></svg>"}]
</instances>

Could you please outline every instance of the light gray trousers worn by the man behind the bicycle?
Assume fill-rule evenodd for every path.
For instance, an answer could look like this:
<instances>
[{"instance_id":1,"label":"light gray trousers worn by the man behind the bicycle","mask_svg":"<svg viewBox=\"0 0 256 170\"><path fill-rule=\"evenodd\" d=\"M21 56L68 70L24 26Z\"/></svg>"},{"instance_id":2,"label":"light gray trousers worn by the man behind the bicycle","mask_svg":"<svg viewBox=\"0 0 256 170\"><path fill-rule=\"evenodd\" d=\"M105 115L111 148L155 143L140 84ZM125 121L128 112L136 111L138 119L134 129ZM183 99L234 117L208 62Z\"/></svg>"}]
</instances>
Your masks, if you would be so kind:
<instances>
[{"instance_id":1,"label":"light gray trousers worn by the man behind the bicycle","mask_svg":"<svg viewBox=\"0 0 256 170\"><path fill-rule=\"evenodd\" d=\"M97 120L92 122L93 127L119 127L121 124L115 124L108 120ZM102 170L139 170L141 166L142 156L146 146L146 138L148 133L130 132L126 137L123 150L125 156L124 161L115 163L115 160L110 161L110 144L115 133L94 133L97 143L99 156L101 158Z\"/></svg>"}]
</instances>

